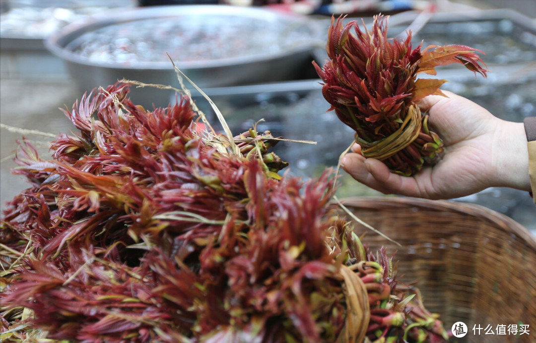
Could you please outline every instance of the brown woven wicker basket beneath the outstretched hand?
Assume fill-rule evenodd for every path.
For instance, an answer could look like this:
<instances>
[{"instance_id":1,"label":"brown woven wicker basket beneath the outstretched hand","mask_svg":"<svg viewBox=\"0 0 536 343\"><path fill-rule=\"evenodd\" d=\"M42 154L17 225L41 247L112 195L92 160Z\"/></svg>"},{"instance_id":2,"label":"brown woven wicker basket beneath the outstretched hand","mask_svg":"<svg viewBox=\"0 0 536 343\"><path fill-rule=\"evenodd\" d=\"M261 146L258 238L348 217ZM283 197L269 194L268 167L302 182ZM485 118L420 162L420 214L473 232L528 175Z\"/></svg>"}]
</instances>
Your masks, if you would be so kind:
<instances>
[{"instance_id":1,"label":"brown woven wicker basket beneath the outstretched hand","mask_svg":"<svg viewBox=\"0 0 536 343\"><path fill-rule=\"evenodd\" d=\"M464 322L468 333L452 341L536 342L536 238L522 225L472 204L406 197L349 198L343 202L364 222L398 241L368 232L364 243L397 251L399 275L418 280L425 306L445 329ZM535 211L536 212L536 211ZM536 217L536 215L535 215ZM473 325L495 334L473 334ZM530 335L497 335L497 325L528 324ZM478 333L478 331L477 331Z\"/></svg>"}]
</instances>

